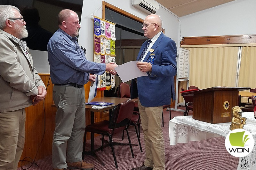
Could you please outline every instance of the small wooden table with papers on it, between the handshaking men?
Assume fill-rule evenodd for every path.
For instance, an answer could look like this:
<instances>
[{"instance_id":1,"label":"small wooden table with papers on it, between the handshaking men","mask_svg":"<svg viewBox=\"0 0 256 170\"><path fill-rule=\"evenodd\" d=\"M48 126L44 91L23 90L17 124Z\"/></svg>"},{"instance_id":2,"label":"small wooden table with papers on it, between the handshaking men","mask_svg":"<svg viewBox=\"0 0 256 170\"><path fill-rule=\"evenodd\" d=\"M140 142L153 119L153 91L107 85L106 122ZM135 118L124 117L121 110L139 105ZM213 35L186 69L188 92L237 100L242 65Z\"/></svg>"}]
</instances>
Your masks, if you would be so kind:
<instances>
[{"instance_id":1,"label":"small wooden table with papers on it, between the handshaking men","mask_svg":"<svg viewBox=\"0 0 256 170\"><path fill-rule=\"evenodd\" d=\"M129 98L119 98L119 97L99 97L99 98L94 98L92 101L100 101L100 102L109 102L109 103L114 103L112 105L108 105L104 108L92 108L92 105L85 105L85 110L89 110L91 112L91 124L94 123L94 112L104 112L109 110L109 115L111 115L112 109L117 106L119 103L123 103L124 101L129 100ZM137 101L138 99L132 99L133 101ZM85 134L86 135L86 134ZM103 166L105 164L103 161L97 156L95 153L95 148L94 148L94 133L91 133L91 151L85 152L85 141L83 144L83 154L82 157L84 158L84 154L87 155L92 155L94 156Z\"/></svg>"}]
</instances>

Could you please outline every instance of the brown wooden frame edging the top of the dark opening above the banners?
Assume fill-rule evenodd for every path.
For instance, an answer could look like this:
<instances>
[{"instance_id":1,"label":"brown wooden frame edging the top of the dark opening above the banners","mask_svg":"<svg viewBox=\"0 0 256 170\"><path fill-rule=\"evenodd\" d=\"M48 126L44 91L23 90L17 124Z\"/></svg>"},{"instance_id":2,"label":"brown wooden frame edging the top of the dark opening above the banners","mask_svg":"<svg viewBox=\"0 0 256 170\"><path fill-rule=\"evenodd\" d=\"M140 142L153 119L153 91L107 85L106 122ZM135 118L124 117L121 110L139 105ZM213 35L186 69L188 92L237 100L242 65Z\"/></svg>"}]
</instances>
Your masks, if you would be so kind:
<instances>
[{"instance_id":1,"label":"brown wooden frame edging the top of the dark opening above the banners","mask_svg":"<svg viewBox=\"0 0 256 170\"><path fill-rule=\"evenodd\" d=\"M131 18L137 22L143 23L144 19L141 19L135 15L130 14L129 12L126 12L124 10L121 10L120 8L117 8L116 6L112 5L112 4L108 4L105 1L102 1L102 19L105 19L105 8L108 8L112 11L115 11L117 13L120 13L122 15L124 15L125 17Z\"/></svg>"}]
</instances>

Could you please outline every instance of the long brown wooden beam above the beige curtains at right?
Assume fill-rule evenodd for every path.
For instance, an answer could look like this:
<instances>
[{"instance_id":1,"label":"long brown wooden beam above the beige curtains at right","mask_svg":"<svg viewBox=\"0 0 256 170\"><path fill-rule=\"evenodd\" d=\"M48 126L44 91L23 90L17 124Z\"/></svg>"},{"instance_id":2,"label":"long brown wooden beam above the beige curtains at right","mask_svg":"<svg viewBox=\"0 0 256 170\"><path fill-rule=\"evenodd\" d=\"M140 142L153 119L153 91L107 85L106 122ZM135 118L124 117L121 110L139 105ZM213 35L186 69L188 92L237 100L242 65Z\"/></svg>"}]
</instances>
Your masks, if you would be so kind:
<instances>
[{"instance_id":1,"label":"long brown wooden beam above the beige curtains at right","mask_svg":"<svg viewBox=\"0 0 256 170\"><path fill-rule=\"evenodd\" d=\"M180 45L244 44L244 43L256 43L256 34L208 36L208 37L183 37L180 42Z\"/></svg>"}]
</instances>

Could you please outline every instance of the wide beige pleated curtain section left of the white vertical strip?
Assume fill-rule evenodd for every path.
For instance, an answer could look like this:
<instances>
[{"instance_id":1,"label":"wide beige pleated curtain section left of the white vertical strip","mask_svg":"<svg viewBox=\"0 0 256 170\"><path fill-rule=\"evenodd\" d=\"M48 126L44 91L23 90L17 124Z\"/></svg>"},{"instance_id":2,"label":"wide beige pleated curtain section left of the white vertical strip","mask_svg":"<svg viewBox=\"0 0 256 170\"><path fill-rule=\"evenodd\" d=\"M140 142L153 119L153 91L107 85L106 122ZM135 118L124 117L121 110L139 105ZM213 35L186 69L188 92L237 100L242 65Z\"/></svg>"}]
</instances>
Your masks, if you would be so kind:
<instances>
[{"instance_id":1,"label":"wide beige pleated curtain section left of the white vertical strip","mask_svg":"<svg viewBox=\"0 0 256 170\"><path fill-rule=\"evenodd\" d=\"M189 50L189 85L201 89L236 86L239 47L199 47Z\"/></svg>"}]
</instances>

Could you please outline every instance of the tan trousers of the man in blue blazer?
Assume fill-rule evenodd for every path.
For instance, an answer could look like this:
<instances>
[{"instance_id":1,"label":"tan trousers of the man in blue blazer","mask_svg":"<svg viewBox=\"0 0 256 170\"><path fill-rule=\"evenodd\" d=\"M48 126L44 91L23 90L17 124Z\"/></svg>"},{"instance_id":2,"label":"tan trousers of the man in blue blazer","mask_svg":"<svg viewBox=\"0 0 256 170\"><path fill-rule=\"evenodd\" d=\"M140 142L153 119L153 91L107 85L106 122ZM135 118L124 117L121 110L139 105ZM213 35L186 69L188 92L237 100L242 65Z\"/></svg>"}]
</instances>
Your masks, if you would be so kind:
<instances>
[{"instance_id":1,"label":"tan trousers of the man in blue blazer","mask_svg":"<svg viewBox=\"0 0 256 170\"><path fill-rule=\"evenodd\" d=\"M164 170L164 135L161 127L163 106L144 107L140 100L138 104L146 149L144 165L153 167L153 170Z\"/></svg>"}]
</instances>

